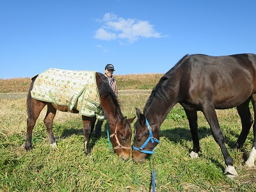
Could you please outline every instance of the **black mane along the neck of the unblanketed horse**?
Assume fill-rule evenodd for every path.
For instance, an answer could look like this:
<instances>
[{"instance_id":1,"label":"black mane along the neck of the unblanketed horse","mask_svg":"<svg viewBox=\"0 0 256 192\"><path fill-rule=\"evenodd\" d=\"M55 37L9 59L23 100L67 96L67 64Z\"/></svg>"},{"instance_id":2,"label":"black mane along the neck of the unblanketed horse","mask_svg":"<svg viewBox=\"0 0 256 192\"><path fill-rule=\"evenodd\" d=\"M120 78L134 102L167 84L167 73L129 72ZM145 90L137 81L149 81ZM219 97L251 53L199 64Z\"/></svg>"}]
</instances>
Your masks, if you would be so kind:
<instances>
[{"instance_id":1,"label":"black mane along the neck of the unblanketed horse","mask_svg":"<svg viewBox=\"0 0 256 192\"><path fill-rule=\"evenodd\" d=\"M187 60L189 57L189 54L186 54L183 56L166 74L164 74L163 77L159 80L159 82L156 84L156 86L153 88L146 104L144 107L144 114L147 113L148 108L150 107L152 100L157 97L161 100L164 100L164 102L167 102L169 99L168 93L166 92L166 89L172 90L172 86L177 84L177 82L169 82L168 80L172 79L175 72L178 70L180 65L184 63L185 60ZM171 86L170 86L171 85Z\"/></svg>"}]
</instances>

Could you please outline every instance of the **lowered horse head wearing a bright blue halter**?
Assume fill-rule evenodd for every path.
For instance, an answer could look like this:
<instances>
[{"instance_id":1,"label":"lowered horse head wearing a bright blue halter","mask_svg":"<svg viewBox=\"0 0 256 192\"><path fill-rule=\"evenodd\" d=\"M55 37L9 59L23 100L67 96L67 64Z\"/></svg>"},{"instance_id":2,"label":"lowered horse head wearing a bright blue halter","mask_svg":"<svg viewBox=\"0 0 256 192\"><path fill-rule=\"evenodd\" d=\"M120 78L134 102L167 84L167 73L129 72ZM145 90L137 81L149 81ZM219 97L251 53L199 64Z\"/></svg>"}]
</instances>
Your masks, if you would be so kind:
<instances>
[{"instance_id":1,"label":"lowered horse head wearing a bright blue halter","mask_svg":"<svg viewBox=\"0 0 256 192\"><path fill-rule=\"evenodd\" d=\"M154 154L154 148L159 143L158 133L152 131L147 118L140 109L136 108L138 119L134 124L134 140L132 147L132 159L137 163L145 163L146 158ZM157 138L154 138L154 136Z\"/></svg>"}]
</instances>

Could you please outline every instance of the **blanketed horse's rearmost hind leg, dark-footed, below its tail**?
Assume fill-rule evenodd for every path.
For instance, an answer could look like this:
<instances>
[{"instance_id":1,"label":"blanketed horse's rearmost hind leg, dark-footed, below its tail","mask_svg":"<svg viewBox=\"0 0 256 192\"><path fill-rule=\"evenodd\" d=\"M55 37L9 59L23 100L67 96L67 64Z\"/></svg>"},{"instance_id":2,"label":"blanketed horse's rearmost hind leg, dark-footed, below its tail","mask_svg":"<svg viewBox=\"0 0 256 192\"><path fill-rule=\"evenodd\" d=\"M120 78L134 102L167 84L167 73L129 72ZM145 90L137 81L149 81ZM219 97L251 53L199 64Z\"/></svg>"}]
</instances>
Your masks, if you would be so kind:
<instances>
[{"instance_id":1,"label":"blanketed horse's rearmost hind leg, dark-footed, below its tail","mask_svg":"<svg viewBox=\"0 0 256 192\"><path fill-rule=\"evenodd\" d=\"M32 144L31 144L32 131L36 124L36 120L40 115L44 106L45 106L45 103L41 102L40 100L30 99L27 101L27 111L28 111L27 136L26 136L26 143L24 147L26 150L30 150L32 148Z\"/></svg>"}]
</instances>

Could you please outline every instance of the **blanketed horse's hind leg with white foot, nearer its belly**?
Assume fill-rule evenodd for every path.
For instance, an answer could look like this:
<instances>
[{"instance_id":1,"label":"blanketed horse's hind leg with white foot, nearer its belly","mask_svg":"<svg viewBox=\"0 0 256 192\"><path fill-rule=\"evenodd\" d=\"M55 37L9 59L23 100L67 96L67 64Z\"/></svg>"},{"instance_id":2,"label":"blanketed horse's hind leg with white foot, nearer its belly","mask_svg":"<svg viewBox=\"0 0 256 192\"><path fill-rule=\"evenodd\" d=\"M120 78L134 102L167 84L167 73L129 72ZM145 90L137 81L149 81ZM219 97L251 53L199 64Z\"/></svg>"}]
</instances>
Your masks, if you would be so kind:
<instances>
[{"instance_id":1,"label":"blanketed horse's hind leg with white foot, nearer its belly","mask_svg":"<svg viewBox=\"0 0 256 192\"><path fill-rule=\"evenodd\" d=\"M51 147L57 146L56 141L54 139L54 135L52 133L52 124L54 116L56 115L56 111L57 110L52 106L52 104L47 104L47 112L44 118L44 124L46 127L47 136Z\"/></svg>"}]
</instances>

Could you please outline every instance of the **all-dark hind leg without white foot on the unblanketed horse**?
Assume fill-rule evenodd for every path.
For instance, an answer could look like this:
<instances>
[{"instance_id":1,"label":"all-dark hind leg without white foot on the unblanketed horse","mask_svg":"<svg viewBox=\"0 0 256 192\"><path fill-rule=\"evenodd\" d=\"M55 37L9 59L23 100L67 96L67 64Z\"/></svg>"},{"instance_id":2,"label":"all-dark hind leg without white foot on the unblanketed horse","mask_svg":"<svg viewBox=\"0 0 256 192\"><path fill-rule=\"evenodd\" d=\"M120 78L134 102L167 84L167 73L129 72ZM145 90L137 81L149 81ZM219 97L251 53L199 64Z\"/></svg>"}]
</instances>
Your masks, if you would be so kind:
<instances>
[{"instance_id":1,"label":"all-dark hind leg without white foot on the unblanketed horse","mask_svg":"<svg viewBox=\"0 0 256 192\"><path fill-rule=\"evenodd\" d=\"M242 123L242 131L241 134L239 135L239 138L237 139L235 145L233 148L241 148L244 145L244 142L248 136L248 133L250 131L250 128L253 124L253 118L250 113L249 109L249 102L250 100L244 102L240 106L237 106L237 112L241 118L241 123Z\"/></svg>"}]
</instances>

